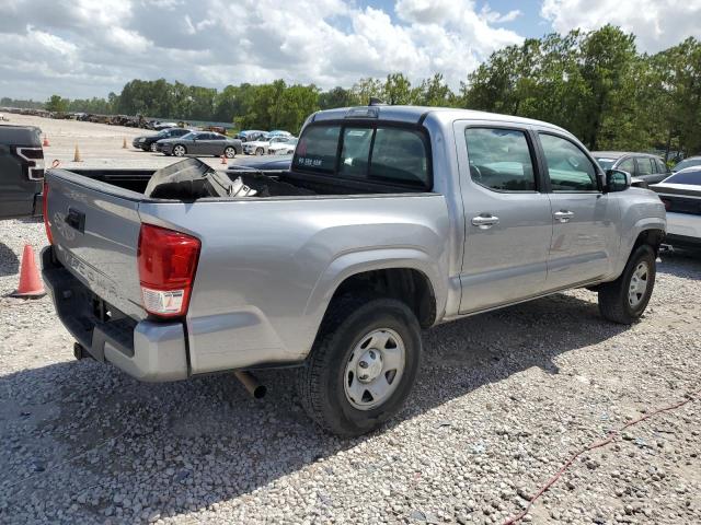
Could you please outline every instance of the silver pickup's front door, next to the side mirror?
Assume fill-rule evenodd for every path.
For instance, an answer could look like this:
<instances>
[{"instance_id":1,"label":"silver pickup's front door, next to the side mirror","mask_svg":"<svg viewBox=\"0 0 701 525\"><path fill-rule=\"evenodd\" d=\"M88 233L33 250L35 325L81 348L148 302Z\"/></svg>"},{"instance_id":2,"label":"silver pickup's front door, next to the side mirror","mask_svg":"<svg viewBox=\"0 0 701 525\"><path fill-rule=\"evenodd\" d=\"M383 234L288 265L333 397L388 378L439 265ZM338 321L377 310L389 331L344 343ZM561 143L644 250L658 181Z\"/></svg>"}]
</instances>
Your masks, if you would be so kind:
<instances>
[{"instance_id":1,"label":"silver pickup's front door, next to the side mirror","mask_svg":"<svg viewBox=\"0 0 701 525\"><path fill-rule=\"evenodd\" d=\"M596 162L570 137L538 133L550 186L553 235L548 290L570 288L613 271L620 232L616 199L602 192Z\"/></svg>"}]
</instances>

